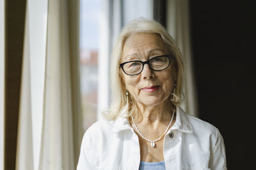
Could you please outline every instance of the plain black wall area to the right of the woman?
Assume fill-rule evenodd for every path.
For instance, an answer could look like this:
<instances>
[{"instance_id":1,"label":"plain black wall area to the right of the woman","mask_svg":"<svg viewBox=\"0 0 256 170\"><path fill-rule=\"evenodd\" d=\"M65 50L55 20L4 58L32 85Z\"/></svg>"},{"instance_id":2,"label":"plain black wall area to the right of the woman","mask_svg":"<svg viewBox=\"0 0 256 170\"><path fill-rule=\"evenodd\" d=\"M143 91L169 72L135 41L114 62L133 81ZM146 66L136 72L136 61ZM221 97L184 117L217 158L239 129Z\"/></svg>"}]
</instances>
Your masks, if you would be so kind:
<instances>
[{"instance_id":1,"label":"plain black wall area to the right of the woman","mask_svg":"<svg viewBox=\"0 0 256 170\"><path fill-rule=\"evenodd\" d=\"M255 5L190 1L200 118L218 127L228 169L255 169Z\"/></svg>"}]
</instances>

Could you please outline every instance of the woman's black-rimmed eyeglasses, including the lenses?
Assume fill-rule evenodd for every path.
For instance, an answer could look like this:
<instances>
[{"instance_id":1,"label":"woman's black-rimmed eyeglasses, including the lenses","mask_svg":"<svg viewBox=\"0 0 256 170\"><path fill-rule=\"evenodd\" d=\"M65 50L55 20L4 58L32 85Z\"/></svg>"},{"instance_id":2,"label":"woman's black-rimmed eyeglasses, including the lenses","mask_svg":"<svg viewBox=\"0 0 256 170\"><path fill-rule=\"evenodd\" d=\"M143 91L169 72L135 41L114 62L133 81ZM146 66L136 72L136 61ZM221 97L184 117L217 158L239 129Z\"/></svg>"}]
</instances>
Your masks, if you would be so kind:
<instances>
[{"instance_id":1,"label":"woman's black-rimmed eyeglasses, including the lenses","mask_svg":"<svg viewBox=\"0 0 256 170\"><path fill-rule=\"evenodd\" d=\"M136 74L140 74L143 71L143 67L145 64L148 64L150 69L153 71L162 71L167 69L170 66L170 62L172 59L172 55L161 55L157 57L153 57L147 61L141 60L131 60L127 62L123 62L119 64L125 74L129 76L134 76Z\"/></svg>"}]
</instances>

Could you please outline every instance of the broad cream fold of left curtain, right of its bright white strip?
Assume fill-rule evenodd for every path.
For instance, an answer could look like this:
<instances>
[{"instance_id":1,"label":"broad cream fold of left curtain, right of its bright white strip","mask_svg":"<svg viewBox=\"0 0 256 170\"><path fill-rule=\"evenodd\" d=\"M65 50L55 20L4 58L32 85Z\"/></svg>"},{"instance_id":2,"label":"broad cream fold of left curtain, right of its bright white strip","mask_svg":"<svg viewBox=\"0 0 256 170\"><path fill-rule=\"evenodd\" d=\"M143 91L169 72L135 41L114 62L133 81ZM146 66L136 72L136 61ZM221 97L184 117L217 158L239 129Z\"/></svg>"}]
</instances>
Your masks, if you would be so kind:
<instances>
[{"instance_id":1,"label":"broad cream fold of left curtain, right of its bright white strip","mask_svg":"<svg viewBox=\"0 0 256 170\"><path fill-rule=\"evenodd\" d=\"M67 1L49 1L39 169L75 167L67 18Z\"/></svg>"}]
</instances>

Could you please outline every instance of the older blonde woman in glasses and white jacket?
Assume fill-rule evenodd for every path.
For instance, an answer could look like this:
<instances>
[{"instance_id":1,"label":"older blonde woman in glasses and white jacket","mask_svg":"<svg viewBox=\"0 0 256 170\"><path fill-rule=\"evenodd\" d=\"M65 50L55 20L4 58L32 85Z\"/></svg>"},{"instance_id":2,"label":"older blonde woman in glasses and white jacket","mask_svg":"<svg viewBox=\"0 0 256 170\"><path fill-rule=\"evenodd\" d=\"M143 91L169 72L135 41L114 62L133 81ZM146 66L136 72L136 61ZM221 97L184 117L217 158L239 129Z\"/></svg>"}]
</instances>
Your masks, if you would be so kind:
<instances>
[{"instance_id":1,"label":"older blonde woman in glasses and white jacket","mask_svg":"<svg viewBox=\"0 0 256 170\"><path fill-rule=\"evenodd\" d=\"M227 169L218 129L179 107L182 75L161 24L126 25L112 53L111 108L85 132L77 169Z\"/></svg>"}]
</instances>

